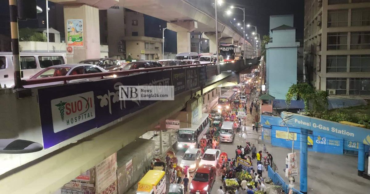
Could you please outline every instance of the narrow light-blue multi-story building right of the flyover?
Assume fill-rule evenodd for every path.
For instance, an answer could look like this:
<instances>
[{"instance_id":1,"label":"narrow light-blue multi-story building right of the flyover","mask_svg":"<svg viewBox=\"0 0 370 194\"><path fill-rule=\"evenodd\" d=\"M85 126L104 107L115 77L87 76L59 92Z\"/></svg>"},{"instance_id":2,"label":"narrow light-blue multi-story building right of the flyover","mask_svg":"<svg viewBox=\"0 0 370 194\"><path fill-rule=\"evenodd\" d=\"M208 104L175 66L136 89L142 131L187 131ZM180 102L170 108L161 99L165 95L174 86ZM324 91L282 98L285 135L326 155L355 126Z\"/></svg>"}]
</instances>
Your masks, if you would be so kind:
<instances>
[{"instance_id":1,"label":"narrow light-blue multi-story building right of the flyover","mask_svg":"<svg viewBox=\"0 0 370 194\"><path fill-rule=\"evenodd\" d=\"M266 44L266 88L276 99L285 99L292 84L297 83L296 28L293 15L270 16L270 37Z\"/></svg>"}]
</instances>

